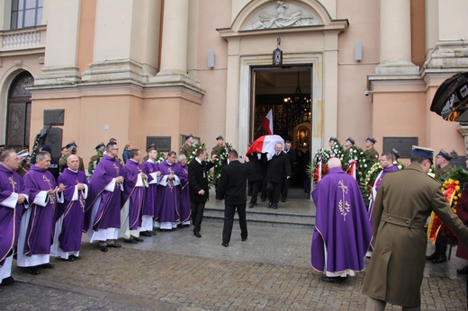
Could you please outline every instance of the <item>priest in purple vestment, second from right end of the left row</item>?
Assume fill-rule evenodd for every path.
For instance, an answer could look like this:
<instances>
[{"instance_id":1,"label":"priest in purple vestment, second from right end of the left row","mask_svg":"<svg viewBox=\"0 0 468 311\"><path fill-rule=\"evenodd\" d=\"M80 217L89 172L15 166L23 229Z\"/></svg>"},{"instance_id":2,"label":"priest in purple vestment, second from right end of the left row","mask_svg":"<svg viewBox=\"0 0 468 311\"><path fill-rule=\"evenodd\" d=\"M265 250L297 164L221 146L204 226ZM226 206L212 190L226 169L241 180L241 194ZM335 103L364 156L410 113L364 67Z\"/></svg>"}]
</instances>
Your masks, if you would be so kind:
<instances>
[{"instance_id":1,"label":"priest in purple vestment, second from right end of the left row","mask_svg":"<svg viewBox=\"0 0 468 311\"><path fill-rule=\"evenodd\" d=\"M180 167L175 151L169 151L166 160L157 164L161 180L157 185L155 227L172 230L180 221Z\"/></svg>"}]
</instances>

